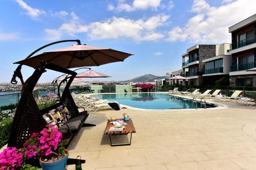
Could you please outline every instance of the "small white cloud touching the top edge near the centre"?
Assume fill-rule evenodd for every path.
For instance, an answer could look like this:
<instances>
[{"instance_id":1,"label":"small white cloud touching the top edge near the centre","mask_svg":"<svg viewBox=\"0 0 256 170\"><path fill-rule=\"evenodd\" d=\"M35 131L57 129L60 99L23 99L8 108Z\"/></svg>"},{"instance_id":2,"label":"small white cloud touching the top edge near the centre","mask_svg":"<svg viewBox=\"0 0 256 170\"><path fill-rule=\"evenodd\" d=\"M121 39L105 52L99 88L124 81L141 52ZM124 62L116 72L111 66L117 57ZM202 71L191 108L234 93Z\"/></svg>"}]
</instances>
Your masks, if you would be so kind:
<instances>
[{"instance_id":1,"label":"small white cloud touching the top edge near the centre","mask_svg":"<svg viewBox=\"0 0 256 170\"><path fill-rule=\"evenodd\" d=\"M114 7L112 4L108 5L108 10L117 10L117 11L135 11L135 10L146 10L151 8L152 10L157 10L160 6L162 0L134 0L133 3L125 3L125 1L118 1L117 7Z\"/></svg>"}]
</instances>

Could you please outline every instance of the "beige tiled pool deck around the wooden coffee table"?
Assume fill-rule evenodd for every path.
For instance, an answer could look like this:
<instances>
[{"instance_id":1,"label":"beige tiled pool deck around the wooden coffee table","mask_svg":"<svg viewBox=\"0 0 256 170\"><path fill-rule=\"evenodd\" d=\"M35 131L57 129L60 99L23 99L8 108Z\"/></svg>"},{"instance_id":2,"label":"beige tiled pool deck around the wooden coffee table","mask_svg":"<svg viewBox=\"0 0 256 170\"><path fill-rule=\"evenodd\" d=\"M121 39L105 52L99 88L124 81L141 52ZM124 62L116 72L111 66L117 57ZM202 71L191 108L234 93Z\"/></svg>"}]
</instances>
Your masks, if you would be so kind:
<instances>
[{"instance_id":1,"label":"beige tiled pool deck around the wooden coffee table","mask_svg":"<svg viewBox=\"0 0 256 170\"><path fill-rule=\"evenodd\" d=\"M87 170L256 169L256 107L221 104L228 108L98 111L87 119L97 126L80 130L68 148L70 157L81 155ZM131 145L111 147L109 136L103 134L106 121L123 113L132 118L137 133ZM128 139L130 135L114 138Z\"/></svg>"}]
</instances>

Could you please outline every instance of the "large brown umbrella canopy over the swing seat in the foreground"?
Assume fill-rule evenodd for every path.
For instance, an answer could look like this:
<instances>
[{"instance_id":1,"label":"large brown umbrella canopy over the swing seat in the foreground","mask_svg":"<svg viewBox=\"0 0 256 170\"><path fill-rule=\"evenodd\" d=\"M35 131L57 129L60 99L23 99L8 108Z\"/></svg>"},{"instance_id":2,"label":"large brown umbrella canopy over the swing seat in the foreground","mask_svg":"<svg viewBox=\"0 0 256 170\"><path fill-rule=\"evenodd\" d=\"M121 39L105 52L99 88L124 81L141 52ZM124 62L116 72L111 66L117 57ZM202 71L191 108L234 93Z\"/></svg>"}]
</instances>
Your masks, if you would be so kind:
<instances>
[{"instance_id":1,"label":"large brown umbrella canopy over the swing seat in the foreground","mask_svg":"<svg viewBox=\"0 0 256 170\"><path fill-rule=\"evenodd\" d=\"M63 68L83 66L99 66L103 64L124 61L132 54L124 53L111 48L76 44L57 50L48 51L34 57L18 61L14 64L23 64L33 68L38 67L41 61Z\"/></svg>"}]
</instances>

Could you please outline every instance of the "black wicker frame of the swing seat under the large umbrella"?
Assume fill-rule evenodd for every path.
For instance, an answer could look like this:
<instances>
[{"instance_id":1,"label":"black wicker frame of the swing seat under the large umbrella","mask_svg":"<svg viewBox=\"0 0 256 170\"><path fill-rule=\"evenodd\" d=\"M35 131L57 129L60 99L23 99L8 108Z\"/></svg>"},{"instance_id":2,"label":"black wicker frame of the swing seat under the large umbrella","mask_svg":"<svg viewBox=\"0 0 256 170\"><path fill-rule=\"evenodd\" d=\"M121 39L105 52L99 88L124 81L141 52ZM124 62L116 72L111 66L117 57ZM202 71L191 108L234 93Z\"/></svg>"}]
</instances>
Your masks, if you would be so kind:
<instances>
[{"instance_id":1,"label":"black wicker frame of the swing seat under the large umbrella","mask_svg":"<svg viewBox=\"0 0 256 170\"><path fill-rule=\"evenodd\" d=\"M39 110L37 103L32 95L32 91L41 75L46 72L46 68L59 72L64 72L71 76L69 77L69 81L67 82L66 87L63 90L59 102L46 109ZM8 147L23 148L23 144L33 132L39 133L42 129L46 127L46 122L42 115L52 109L57 108L60 105L65 105L69 109L71 113L71 119L79 115L84 115L84 119L82 120L82 123L77 131L65 137L67 140L69 140L68 143L71 142L71 140L79 132L81 127L95 126L92 124L84 124L87 117L89 116L89 113L84 108L82 112L79 112L78 107L76 106L70 93L69 87L75 76L76 72L74 71L44 61L41 62L41 64L35 69L33 75L28 78L27 81L23 84L22 95L17 105L15 116L13 118L13 124L8 140ZM83 161L83 163L84 162L85 160ZM75 159L70 159L70 161L68 161L68 164L74 163L76 163Z\"/></svg>"}]
</instances>

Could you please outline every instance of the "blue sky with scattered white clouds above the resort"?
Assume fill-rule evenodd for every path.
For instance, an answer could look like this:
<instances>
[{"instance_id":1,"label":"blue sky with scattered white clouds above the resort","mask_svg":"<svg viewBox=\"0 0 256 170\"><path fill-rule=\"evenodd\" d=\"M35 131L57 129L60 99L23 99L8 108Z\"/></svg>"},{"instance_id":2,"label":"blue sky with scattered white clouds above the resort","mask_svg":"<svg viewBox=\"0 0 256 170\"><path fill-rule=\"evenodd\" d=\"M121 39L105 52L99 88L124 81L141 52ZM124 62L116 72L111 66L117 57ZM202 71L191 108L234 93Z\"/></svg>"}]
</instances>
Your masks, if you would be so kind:
<instances>
[{"instance_id":1,"label":"blue sky with scattered white clouds above the resort","mask_svg":"<svg viewBox=\"0 0 256 170\"><path fill-rule=\"evenodd\" d=\"M17 67L13 62L65 39L134 54L124 62L91 67L111 76L97 80L165 76L181 69L187 48L231 42L228 27L255 14L255 6L255 0L0 0L0 82L10 82ZM72 44L55 44L37 54ZM24 79L33 71L23 66ZM59 75L48 70L39 82Z\"/></svg>"}]
</instances>

